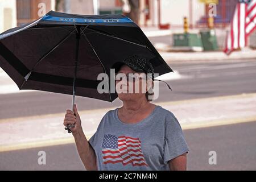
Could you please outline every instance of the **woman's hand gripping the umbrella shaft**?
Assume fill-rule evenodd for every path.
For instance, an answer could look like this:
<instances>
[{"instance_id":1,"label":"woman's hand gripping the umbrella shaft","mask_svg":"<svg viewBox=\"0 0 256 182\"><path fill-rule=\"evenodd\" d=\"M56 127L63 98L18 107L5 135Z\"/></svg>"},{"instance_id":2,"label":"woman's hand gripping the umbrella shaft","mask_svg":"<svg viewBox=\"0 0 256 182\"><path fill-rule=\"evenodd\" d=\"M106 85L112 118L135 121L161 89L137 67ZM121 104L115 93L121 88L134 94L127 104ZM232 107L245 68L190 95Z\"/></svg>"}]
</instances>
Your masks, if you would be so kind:
<instances>
[{"instance_id":1,"label":"woman's hand gripping the umbrella shaft","mask_svg":"<svg viewBox=\"0 0 256 182\"><path fill-rule=\"evenodd\" d=\"M65 127L68 127L68 125L75 125L75 127L70 127L73 135L82 131L81 119L77 111L76 104L74 105L74 111L69 109L67 110L63 124Z\"/></svg>"}]
</instances>

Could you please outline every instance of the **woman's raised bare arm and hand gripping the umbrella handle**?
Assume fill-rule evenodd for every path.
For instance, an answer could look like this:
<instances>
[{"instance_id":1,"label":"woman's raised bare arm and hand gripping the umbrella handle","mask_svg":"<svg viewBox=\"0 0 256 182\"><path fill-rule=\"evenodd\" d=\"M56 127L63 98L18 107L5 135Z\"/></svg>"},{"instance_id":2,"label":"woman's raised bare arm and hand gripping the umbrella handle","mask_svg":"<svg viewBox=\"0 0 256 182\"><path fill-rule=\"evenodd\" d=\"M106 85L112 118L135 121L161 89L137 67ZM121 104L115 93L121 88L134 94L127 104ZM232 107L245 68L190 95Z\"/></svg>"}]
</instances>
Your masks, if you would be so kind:
<instances>
[{"instance_id":1,"label":"woman's raised bare arm and hand gripping the umbrella handle","mask_svg":"<svg viewBox=\"0 0 256 182\"><path fill-rule=\"evenodd\" d=\"M76 105L74 105L74 112L67 110L67 113L65 114L64 125L66 127L68 127L68 125L75 125L75 127L71 128L71 131L73 137L75 138L77 151L82 160L82 163L87 170L97 170L96 154L86 139L84 131L82 131L81 119Z\"/></svg>"}]
</instances>

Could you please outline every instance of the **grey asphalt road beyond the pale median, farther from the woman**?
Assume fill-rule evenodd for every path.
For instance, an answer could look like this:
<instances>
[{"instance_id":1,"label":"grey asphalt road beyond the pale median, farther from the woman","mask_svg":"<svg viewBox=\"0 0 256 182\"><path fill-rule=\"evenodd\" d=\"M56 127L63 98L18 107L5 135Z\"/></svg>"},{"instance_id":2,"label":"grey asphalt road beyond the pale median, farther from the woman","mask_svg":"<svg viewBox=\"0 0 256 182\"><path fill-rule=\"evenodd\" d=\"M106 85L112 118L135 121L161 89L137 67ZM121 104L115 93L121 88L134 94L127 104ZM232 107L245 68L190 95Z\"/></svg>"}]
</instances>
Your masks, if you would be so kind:
<instances>
[{"instance_id":1,"label":"grey asphalt road beyond the pale median, farther from the woman","mask_svg":"<svg viewBox=\"0 0 256 182\"><path fill-rule=\"evenodd\" d=\"M171 63L170 67L182 78L167 81L172 91L159 82L156 102L256 92L256 60ZM42 91L0 94L0 119L64 113L71 108L71 102L72 96ZM121 105L118 99L110 103L84 97L76 97L76 103L79 110Z\"/></svg>"}]
</instances>

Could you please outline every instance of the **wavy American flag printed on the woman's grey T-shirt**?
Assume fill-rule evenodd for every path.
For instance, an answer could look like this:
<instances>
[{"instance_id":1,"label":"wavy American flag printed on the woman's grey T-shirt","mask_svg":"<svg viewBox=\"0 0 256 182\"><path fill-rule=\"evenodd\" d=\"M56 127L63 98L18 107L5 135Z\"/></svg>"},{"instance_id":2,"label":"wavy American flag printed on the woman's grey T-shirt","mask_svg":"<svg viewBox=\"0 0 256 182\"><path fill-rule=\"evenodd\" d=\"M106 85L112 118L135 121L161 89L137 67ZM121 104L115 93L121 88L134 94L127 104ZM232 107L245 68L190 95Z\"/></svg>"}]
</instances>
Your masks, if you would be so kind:
<instances>
[{"instance_id":1,"label":"wavy American flag printed on the woman's grey T-shirt","mask_svg":"<svg viewBox=\"0 0 256 182\"><path fill-rule=\"evenodd\" d=\"M104 135L102 143L104 164L122 163L123 166L148 166L141 150L139 138L115 135Z\"/></svg>"}]
</instances>

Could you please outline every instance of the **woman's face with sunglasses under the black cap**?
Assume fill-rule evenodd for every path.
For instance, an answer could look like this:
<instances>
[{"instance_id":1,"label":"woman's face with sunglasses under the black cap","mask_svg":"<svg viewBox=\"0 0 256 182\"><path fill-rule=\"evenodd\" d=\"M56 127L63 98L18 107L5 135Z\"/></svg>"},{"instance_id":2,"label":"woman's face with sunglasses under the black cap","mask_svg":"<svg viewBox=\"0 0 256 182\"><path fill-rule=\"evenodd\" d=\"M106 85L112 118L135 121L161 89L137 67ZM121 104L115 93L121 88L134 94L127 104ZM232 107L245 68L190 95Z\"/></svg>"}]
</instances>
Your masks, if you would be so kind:
<instances>
[{"instance_id":1,"label":"woman's face with sunglasses under the black cap","mask_svg":"<svg viewBox=\"0 0 256 182\"><path fill-rule=\"evenodd\" d=\"M133 69L131 69L127 65L122 65L118 73L123 73L123 76L126 75L126 79L122 79L123 77L119 74L121 78L119 77L120 79L118 79L118 77L116 77L116 80L115 80L115 90L117 91L118 98L121 101L138 100L141 97L146 98L146 86L147 86L147 81L145 79L146 74L141 72L140 73L135 72L133 71ZM132 74L128 75L129 73L132 73ZM131 76L134 76L135 78L133 79L133 77ZM126 93L120 93L121 90L122 92L126 92Z\"/></svg>"}]
</instances>

